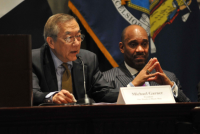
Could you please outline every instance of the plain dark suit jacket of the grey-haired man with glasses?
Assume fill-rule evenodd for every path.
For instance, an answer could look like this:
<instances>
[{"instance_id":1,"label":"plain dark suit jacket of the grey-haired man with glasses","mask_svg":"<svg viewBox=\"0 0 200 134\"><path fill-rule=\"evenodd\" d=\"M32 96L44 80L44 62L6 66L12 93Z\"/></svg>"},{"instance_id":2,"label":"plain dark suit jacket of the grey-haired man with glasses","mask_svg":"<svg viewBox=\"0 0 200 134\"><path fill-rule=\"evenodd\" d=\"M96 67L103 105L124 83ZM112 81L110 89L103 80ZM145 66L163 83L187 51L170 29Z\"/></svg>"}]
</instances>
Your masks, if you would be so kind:
<instances>
[{"instance_id":1,"label":"plain dark suit jacket of the grey-haired man with glasses","mask_svg":"<svg viewBox=\"0 0 200 134\"><path fill-rule=\"evenodd\" d=\"M48 45L32 50L33 69L33 104L44 102L49 92L58 91L55 67ZM80 50L77 55L83 60L85 67L86 89L89 97L95 102L115 102L117 92L99 71L98 60L94 53ZM78 100L84 98L83 65L80 59L73 61L72 68L73 94Z\"/></svg>"}]
</instances>

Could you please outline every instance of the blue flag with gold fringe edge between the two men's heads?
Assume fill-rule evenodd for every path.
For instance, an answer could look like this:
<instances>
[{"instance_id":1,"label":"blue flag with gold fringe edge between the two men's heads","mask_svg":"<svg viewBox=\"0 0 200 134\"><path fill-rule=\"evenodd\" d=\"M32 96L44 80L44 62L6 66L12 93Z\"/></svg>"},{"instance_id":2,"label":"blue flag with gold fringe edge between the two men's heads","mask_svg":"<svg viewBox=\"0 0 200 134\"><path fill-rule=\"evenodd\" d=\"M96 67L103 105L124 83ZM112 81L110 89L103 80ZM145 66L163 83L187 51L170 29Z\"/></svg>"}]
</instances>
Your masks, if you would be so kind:
<instances>
[{"instance_id":1,"label":"blue flag with gold fringe edge between the two men's heads","mask_svg":"<svg viewBox=\"0 0 200 134\"><path fill-rule=\"evenodd\" d=\"M149 32L148 6L145 4L146 7L142 7L144 4L141 2L132 1L126 2L126 5L121 5L121 0L69 1L70 9L78 16L113 67L124 60L118 44L125 27L138 24ZM145 1L149 4L149 0Z\"/></svg>"}]
</instances>

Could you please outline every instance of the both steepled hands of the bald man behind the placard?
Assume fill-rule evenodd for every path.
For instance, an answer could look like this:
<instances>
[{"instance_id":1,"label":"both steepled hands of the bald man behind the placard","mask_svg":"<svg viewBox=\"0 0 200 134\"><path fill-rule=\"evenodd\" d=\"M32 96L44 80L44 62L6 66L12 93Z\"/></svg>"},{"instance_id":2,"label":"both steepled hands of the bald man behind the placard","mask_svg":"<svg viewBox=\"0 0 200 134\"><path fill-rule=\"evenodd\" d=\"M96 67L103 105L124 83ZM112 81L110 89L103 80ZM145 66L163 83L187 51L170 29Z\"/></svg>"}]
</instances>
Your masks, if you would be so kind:
<instances>
[{"instance_id":1,"label":"both steepled hands of the bald man behind the placard","mask_svg":"<svg viewBox=\"0 0 200 134\"><path fill-rule=\"evenodd\" d=\"M153 69L155 69L156 72L150 73ZM151 58L149 60L145 67L132 81L132 84L134 86L142 86L145 81L155 81L160 85L170 85L171 87L174 85L174 83L163 72L157 58Z\"/></svg>"}]
</instances>

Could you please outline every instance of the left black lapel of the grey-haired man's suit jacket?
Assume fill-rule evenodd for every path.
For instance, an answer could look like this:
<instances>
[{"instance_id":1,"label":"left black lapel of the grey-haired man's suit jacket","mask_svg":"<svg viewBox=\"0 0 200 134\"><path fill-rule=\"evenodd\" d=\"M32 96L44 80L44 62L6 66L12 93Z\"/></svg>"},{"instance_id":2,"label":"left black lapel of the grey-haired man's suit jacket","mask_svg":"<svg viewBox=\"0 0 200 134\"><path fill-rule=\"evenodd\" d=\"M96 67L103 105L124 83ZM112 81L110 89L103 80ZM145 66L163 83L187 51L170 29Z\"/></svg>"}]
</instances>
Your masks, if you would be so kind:
<instances>
[{"instance_id":1,"label":"left black lapel of the grey-haired man's suit jacket","mask_svg":"<svg viewBox=\"0 0 200 134\"><path fill-rule=\"evenodd\" d=\"M55 72L55 66L53 63L53 59L50 54L50 50L48 46L45 46L44 49L44 75L46 77L46 82L49 91L58 91L58 83Z\"/></svg>"}]
</instances>

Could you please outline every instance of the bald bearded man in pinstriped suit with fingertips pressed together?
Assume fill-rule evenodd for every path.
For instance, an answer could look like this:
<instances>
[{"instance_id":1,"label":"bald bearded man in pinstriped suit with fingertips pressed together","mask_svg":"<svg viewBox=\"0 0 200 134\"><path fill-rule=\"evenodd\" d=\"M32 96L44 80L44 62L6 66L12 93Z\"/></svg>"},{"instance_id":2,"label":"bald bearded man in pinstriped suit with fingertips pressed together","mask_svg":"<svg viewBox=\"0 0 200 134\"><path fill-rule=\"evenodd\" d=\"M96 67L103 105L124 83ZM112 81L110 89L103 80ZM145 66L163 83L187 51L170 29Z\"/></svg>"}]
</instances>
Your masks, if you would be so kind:
<instances>
[{"instance_id":1,"label":"bald bearded man in pinstriped suit with fingertips pressed together","mask_svg":"<svg viewBox=\"0 0 200 134\"><path fill-rule=\"evenodd\" d=\"M105 79L112 82L116 88L170 85L176 101L190 101L181 91L180 82L176 76L162 70L157 58L151 58L147 63L149 40L146 31L141 26L130 25L123 30L119 49L124 55L124 63L104 72Z\"/></svg>"}]
</instances>

